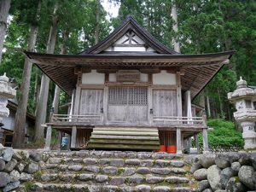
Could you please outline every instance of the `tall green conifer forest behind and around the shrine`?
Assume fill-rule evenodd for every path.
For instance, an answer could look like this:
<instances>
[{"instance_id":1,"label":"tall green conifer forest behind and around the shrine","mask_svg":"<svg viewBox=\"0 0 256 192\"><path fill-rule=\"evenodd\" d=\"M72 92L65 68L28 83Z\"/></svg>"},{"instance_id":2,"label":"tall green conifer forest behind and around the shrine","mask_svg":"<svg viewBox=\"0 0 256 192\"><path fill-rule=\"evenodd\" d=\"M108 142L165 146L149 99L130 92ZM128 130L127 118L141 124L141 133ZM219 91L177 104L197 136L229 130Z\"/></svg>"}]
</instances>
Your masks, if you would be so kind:
<instances>
[{"instance_id":1,"label":"tall green conifer forest behind and around the shrine","mask_svg":"<svg viewBox=\"0 0 256 192\"><path fill-rule=\"evenodd\" d=\"M230 63L226 64L201 95L194 99L195 103L207 109L208 118L232 120L234 108L227 100L227 93L235 90L239 76L246 79L249 85L256 85L256 1L109 2L119 6L119 15L115 18L108 15L100 0L1 0L0 33L3 33L3 30L6 32L5 36L0 38L0 43L4 39L3 51L0 50L3 53L0 74L6 72L9 78L15 78L19 85L18 101L22 100L24 94L22 73L25 67L30 67L30 64L26 63L28 61L25 61L25 55L22 54L23 50L78 54L107 37L127 15L133 15L154 38L171 49L173 39L177 38L181 45L181 53L184 55L236 50ZM4 7L6 3L7 7ZM178 32L172 29L173 4L177 7ZM8 21L4 23L2 19L6 9ZM110 19L107 19L107 15ZM44 75L37 66L31 64L31 67L31 74L26 73L26 76L31 77L29 81L26 79L26 84L28 82L30 85L26 91L27 111L36 115ZM43 119L46 117L46 121L51 113L50 109L55 105L56 97L59 105L71 100L62 90L56 93L53 82L49 82L49 95L46 97L48 104L43 112ZM25 107L23 105L23 112Z\"/></svg>"}]
</instances>

